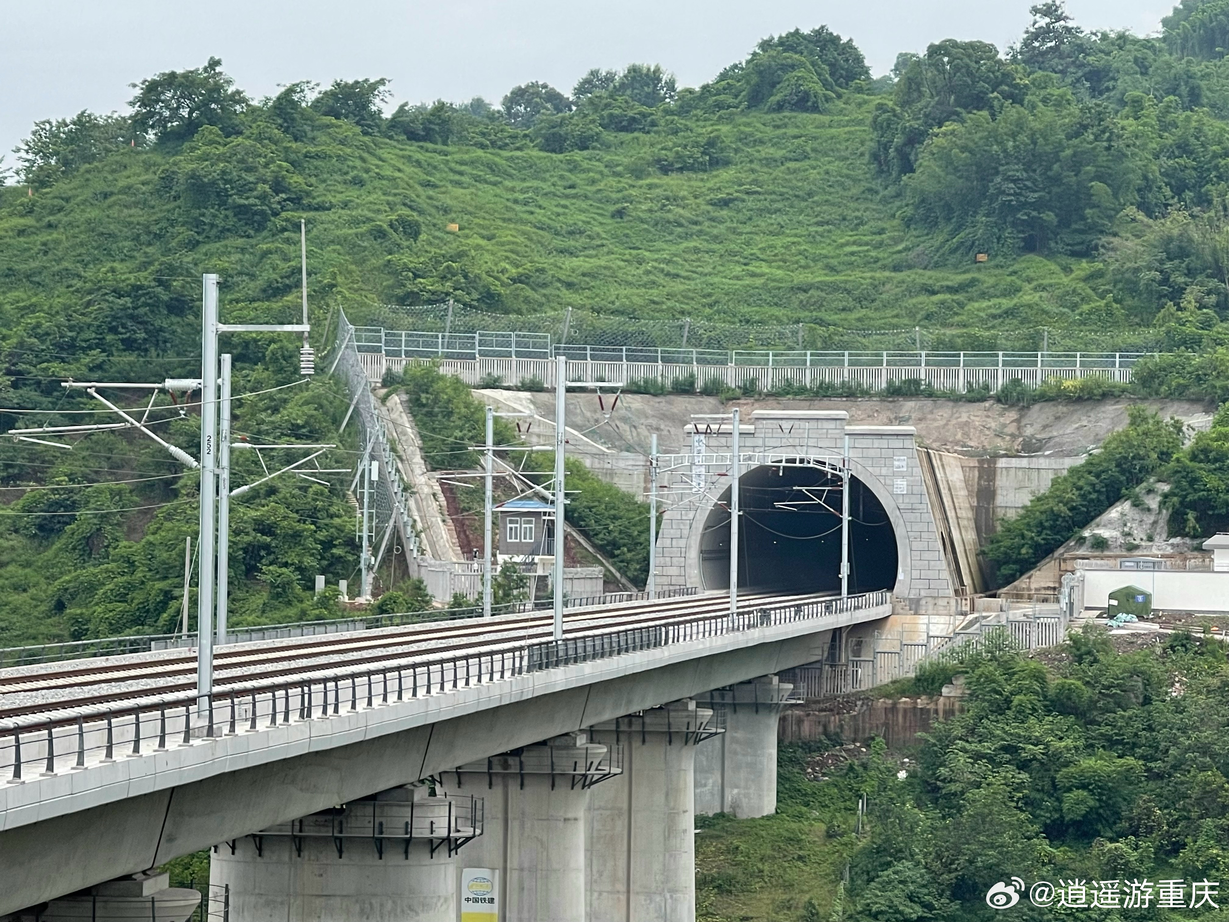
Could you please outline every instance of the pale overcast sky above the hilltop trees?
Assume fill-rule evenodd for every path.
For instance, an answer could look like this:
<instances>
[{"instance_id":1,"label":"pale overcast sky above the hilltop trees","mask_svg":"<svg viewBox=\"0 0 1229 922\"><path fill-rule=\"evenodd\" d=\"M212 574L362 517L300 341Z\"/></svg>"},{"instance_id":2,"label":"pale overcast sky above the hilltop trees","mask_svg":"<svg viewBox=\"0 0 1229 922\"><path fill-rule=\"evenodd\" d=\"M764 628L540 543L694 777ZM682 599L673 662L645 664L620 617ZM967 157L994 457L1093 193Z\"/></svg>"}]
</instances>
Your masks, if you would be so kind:
<instances>
[{"instance_id":1,"label":"pale overcast sky above the hilltop trees","mask_svg":"<svg viewBox=\"0 0 1229 922\"><path fill-rule=\"evenodd\" d=\"M756 41L826 23L876 75L941 38L1014 42L1035 0L0 0L0 152L39 118L123 111L129 84L209 55L249 95L386 76L397 101L483 96L587 69L660 63L697 86ZM1089 28L1156 30L1172 0L1069 0ZM6 165L14 157L9 154Z\"/></svg>"}]
</instances>

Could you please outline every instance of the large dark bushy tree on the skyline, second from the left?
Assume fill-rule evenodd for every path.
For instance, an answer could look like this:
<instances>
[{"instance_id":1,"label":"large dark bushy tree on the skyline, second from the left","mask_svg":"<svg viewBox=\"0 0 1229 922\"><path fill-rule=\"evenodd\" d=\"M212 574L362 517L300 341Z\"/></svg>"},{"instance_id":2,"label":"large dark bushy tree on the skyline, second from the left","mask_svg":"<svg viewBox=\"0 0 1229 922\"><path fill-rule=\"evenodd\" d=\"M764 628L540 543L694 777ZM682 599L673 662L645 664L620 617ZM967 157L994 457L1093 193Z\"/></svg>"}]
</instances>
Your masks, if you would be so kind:
<instances>
[{"instance_id":1,"label":"large dark bushy tree on the skyline, second from the left","mask_svg":"<svg viewBox=\"0 0 1229 922\"><path fill-rule=\"evenodd\" d=\"M133 128L159 141L186 141L205 125L224 135L241 129L240 113L248 98L222 73L220 58L210 58L194 70L167 70L139 84L133 108Z\"/></svg>"}]
</instances>

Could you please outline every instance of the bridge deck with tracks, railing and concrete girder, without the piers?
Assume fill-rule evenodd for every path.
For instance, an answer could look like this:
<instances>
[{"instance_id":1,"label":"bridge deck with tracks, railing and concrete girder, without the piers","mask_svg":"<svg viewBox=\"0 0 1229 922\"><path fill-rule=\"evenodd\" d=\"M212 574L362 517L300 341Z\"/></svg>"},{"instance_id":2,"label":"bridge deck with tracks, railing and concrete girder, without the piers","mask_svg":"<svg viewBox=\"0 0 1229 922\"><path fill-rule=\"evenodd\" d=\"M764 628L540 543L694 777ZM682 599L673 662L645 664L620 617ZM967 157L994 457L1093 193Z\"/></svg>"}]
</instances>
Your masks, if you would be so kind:
<instances>
[{"instance_id":1,"label":"bridge deck with tracks, railing and concrete girder, without the piers","mask_svg":"<svg viewBox=\"0 0 1229 922\"><path fill-rule=\"evenodd\" d=\"M509 616L225 648L213 722L194 688L175 691L192 670L181 650L6 670L0 867L27 883L0 891L0 915L812 661L823 632L891 611L887 593L748 599L736 617L725 606L569 612L558 642L547 618Z\"/></svg>"}]
</instances>

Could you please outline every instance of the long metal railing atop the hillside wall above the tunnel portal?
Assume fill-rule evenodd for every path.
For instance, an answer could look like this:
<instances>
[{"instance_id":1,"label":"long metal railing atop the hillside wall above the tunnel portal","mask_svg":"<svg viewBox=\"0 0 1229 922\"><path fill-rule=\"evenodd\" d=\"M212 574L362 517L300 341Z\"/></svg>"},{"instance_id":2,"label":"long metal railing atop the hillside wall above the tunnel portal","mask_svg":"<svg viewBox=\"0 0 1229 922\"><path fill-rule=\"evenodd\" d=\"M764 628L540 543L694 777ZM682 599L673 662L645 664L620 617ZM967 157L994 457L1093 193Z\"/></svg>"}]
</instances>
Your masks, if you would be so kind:
<instances>
[{"instance_id":1,"label":"long metal railing atop the hillside wall above the tunnel portal","mask_svg":"<svg viewBox=\"0 0 1229 922\"><path fill-rule=\"evenodd\" d=\"M934 352L817 349L671 349L637 345L553 343L549 333L429 333L354 327L360 353L393 359L552 359L621 364L726 365L755 368L945 368L945 369L1128 369L1153 353L1143 352Z\"/></svg>"}]
</instances>

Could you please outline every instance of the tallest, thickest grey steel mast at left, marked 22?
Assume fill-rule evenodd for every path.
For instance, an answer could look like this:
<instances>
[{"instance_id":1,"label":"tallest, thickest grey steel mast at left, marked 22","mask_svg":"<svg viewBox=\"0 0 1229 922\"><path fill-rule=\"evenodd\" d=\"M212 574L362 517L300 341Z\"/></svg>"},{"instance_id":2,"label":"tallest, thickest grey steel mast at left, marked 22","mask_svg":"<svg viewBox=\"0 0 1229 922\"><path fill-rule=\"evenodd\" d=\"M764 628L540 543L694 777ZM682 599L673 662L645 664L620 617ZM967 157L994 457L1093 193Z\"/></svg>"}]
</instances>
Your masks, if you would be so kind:
<instances>
[{"instance_id":1,"label":"tallest, thickest grey steel mast at left, marked 22","mask_svg":"<svg viewBox=\"0 0 1229 922\"><path fill-rule=\"evenodd\" d=\"M200 577L197 580L197 707L209 712L214 686L214 538L218 498L218 277L203 279L200 302Z\"/></svg>"}]
</instances>

